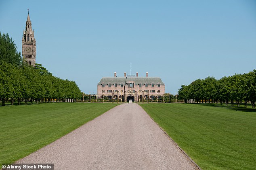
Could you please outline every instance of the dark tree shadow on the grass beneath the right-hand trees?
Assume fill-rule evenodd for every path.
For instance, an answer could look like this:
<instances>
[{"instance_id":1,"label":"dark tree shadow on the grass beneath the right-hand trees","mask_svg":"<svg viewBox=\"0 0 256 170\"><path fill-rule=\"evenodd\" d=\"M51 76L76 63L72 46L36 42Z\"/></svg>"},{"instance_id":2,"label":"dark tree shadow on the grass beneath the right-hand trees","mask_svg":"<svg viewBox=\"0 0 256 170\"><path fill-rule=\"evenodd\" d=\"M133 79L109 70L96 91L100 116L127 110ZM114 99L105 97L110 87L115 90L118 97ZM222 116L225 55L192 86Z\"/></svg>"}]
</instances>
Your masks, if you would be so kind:
<instances>
[{"instance_id":1,"label":"dark tree shadow on the grass beneath the right-hand trees","mask_svg":"<svg viewBox=\"0 0 256 170\"><path fill-rule=\"evenodd\" d=\"M226 104L211 104L211 103L201 103L200 104L201 106L208 106L208 107L221 107L221 108L224 108L224 109L229 109L229 110L233 110L233 111L243 111L243 112L256 112L256 109L252 109L250 107L252 107L251 104L248 104L247 105L247 108L244 107L244 104L240 104L239 107L236 106L236 104L234 104L233 106L231 106L230 104L229 105L226 105Z\"/></svg>"}]
</instances>

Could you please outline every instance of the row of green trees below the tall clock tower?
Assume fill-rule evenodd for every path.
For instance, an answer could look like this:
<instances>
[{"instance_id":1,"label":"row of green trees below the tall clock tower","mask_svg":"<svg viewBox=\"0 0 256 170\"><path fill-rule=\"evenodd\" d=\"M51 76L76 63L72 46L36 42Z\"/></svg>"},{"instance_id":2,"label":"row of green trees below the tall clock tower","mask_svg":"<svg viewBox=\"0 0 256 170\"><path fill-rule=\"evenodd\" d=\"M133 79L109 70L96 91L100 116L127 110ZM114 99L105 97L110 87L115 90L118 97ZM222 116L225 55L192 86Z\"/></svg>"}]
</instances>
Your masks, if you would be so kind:
<instances>
[{"instance_id":1,"label":"row of green trees below the tall clock tower","mask_svg":"<svg viewBox=\"0 0 256 170\"><path fill-rule=\"evenodd\" d=\"M22 61L21 53L8 36L0 32L0 100L21 102L28 99L42 101L43 98L65 100L81 98L82 92L76 82L52 76L41 64L35 67ZM46 100L45 100L46 101Z\"/></svg>"}]
</instances>

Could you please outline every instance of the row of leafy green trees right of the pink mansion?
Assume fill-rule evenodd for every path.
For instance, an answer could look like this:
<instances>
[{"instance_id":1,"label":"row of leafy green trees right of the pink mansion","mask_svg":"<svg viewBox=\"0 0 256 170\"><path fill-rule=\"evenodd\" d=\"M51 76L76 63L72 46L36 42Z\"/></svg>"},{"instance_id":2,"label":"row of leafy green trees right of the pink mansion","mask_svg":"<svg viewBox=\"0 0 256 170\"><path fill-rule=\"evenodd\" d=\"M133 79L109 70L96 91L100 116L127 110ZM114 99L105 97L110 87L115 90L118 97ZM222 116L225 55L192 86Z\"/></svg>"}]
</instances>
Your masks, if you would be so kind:
<instances>
[{"instance_id":1,"label":"row of leafy green trees right of the pink mansion","mask_svg":"<svg viewBox=\"0 0 256 170\"><path fill-rule=\"evenodd\" d=\"M178 90L180 99L185 102L193 99L198 102L220 102L233 105L236 102L244 102L245 106L251 101L252 107L255 108L256 100L256 70L245 74L235 74L229 77L223 77L216 80L214 77L197 79L189 85L183 85Z\"/></svg>"}]
</instances>

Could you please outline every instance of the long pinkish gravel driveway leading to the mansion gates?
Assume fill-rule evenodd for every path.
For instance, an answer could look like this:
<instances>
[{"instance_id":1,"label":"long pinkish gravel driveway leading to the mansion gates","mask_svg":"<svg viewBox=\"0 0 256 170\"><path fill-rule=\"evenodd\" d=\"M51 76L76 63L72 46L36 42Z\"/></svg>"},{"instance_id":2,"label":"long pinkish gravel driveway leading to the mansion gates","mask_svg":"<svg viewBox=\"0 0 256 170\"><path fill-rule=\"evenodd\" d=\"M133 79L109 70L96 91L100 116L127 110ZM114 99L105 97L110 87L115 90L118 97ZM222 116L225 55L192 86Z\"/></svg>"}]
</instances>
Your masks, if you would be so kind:
<instances>
[{"instance_id":1,"label":"long pinkish gravel driveway leading to the mansion gates","mask_svg":"<svg viewBox=\"0 0 256 170\"><path fill-rule=\"evenodd\" d=\"M198 169L138 104L121 104L17 161L55 170Z\"/></svg>"}]
</instances>

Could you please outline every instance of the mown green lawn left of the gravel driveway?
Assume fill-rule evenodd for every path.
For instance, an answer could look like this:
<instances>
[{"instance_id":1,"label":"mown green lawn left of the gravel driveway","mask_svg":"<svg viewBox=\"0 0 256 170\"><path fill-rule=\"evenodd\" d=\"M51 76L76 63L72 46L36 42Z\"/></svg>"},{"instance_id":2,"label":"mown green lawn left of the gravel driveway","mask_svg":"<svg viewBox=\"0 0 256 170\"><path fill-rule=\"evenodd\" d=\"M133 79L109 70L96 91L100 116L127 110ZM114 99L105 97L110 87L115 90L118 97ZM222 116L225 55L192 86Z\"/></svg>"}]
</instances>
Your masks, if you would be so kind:
<instances>
[{"instance_id":1,"label":"mown green lawn left of the gravel driveway","mask_svg":"<svg viewBox=\"0 0 256 170\"><path fill-rule=\"evenodd\" d=\"M35 152L117 105L44 103L0 107L0 164Z\"/></svg>"}]
</instances>

